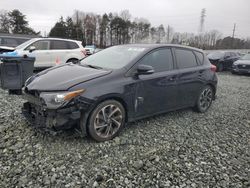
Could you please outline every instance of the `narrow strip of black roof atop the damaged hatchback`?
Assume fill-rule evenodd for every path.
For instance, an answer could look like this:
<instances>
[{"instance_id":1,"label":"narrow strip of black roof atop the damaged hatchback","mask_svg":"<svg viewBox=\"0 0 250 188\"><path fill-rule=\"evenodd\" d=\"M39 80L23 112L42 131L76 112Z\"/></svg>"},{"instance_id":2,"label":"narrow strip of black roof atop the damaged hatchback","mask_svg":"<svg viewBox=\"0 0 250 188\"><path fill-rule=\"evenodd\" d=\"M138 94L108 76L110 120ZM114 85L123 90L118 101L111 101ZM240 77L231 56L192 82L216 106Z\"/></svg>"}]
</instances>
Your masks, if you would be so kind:
<instances>
[{"instance_id":1,"label":"narrow strip of black roof atop the damaged hatchback","mask_svg":"<svg viewBox=\"0 0 250 188\"><path fill-rule=\"evenodd\" d=\"M187 49L203 52L202 49L179 45L179 44L124 44L122 46L141 47L141 48L148 48L148 49L154 49L154 48L159 48L159 47L179 47L179 48L187 48Z\"/></svg>"}]
</instances>

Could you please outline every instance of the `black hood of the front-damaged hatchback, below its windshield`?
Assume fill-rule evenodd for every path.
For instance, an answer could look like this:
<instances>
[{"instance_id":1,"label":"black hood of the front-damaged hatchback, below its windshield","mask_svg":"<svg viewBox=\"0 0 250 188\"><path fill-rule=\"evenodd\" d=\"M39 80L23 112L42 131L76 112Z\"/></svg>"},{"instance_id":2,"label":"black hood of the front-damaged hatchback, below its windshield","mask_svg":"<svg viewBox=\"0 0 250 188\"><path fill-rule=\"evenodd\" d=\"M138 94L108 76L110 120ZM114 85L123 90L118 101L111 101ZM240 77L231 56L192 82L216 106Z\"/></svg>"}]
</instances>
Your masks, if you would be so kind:
<instances>
[{"instance_id":1,"label":"black hood of the front-damaged hatchback, below its windshield","mask_svg":"<svg viewBox=\"0 0 250 188\"><path fill-rule=\"evenodd\" d=\"M30 77L26 81L25 87L28 90L65 91L74 85L105 76L111 72L111 70L66 64L47 69Z\"/></svg>"}]
</instances>

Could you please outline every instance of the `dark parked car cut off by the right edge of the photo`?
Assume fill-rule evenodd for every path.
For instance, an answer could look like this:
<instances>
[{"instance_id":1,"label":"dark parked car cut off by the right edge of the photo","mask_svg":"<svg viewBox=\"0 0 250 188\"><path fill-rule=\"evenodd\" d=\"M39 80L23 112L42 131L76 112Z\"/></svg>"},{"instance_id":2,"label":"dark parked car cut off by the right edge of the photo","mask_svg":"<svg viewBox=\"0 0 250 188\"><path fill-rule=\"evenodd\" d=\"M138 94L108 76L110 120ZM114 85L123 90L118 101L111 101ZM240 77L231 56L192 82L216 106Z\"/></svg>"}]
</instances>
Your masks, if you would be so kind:
<instances>
[{"instance_id":1,"label":"dark parked car cut off by the right edge of the photo","mask_svg":"<svg viewBox=\"0 0 250 188\"><path fill-rule=\"evenodd\" d=\"M249 74L250 73L250 54L246 54L239 60L235 61L232 66L233 74Z\"/></svg>"}]
</instances>

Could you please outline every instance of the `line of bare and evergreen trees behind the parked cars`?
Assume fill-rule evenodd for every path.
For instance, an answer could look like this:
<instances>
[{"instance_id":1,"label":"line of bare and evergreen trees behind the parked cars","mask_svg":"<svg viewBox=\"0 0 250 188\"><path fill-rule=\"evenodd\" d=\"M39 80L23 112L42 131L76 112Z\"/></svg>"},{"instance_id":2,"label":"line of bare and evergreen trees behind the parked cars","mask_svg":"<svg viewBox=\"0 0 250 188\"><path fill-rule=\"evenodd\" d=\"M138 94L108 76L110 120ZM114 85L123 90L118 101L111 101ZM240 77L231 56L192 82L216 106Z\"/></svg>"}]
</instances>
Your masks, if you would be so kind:
<instances>
[{"instance_id":1,"label":"line of bare and evergreen trees behind the parked cars","mask_svg":"<svg viewBox=\"0 0 250 188\"><path fill-rule=\"evenodd\" d=\"M29 27L19 10L0 12L0 32L40 34ZM170 25L152 26L145 18L133 18L128 10L103 15L75 10L72 16L60 17L49 32L50 37L80 40L83 45L100 48L128 43L173 43L202 49L250 48L250 39L239 39L211 30L204 33L175 32Z\"/></svg>"}]
</instances>

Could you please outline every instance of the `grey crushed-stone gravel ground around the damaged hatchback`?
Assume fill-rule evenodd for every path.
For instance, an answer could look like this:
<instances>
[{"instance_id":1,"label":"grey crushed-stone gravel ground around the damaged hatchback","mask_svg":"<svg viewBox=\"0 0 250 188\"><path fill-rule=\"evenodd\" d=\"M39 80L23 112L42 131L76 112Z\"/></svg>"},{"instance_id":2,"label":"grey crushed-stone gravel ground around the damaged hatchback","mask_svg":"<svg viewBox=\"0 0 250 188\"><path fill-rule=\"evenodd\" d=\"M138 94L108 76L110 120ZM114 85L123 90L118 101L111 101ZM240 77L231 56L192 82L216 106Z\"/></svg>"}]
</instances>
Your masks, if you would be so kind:
<instances>
[{"instance_id":1,"label":"grey crushed-stone gravel ground around the damaged hatchback","mask_svg":"<svg viewBox=\"0 0 250 188\"><path fill-rule=\"evenodd\" d=\"M250 77L218 77L207 113L130 123L104 143L35 130L0 90L0 187L250 187Z\"/></svg>"}]
</instances>

